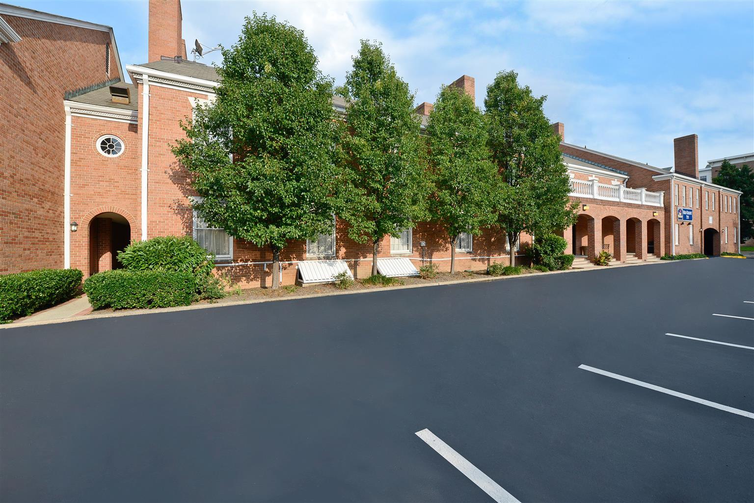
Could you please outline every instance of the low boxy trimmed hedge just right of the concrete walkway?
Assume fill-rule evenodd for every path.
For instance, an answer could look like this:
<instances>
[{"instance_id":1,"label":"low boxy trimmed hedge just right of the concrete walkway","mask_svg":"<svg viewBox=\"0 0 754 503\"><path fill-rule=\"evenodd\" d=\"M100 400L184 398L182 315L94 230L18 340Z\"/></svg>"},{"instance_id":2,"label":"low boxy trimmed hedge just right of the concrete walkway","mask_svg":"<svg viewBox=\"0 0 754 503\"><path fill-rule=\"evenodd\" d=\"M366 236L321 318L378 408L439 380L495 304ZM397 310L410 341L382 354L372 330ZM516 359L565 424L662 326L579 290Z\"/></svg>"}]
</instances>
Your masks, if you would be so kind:
<instances>
[{"instance_id":1,"label":"low boxy trimmed hedge just right of the concrete walkway","mask_svg":"<svg viewBox=\"0 0 754 503\"><path fill-rule=\"evenodd\" d=\"M103 271L84 281L84 292L95 309L168 308L196 299L187 271Z\"/></svg>"}]
</instances>

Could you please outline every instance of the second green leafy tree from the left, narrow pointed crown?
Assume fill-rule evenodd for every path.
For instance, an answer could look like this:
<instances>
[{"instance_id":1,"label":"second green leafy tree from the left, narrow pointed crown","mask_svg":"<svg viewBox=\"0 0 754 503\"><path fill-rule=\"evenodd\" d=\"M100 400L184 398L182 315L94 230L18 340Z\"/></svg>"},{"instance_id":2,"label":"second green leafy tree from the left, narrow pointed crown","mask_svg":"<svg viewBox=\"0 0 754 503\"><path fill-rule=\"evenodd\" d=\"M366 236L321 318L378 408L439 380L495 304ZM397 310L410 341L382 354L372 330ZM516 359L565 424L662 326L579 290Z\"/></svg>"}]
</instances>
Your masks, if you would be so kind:
<instances>
[{"instance_id":1,"label":"second green leafy tree from the left, narrow pointed crown","mask_svg":"<svg viewBox=\"0 0 754 503\"><path fill-rule=\"evenodd\" d=\"M361 41L339 93L348 101L343 135L348 182L340 216L348 235L372 244L372 275L379 243L400 235L425 214L428 183L422 164L420 122L408 84L382 45Z\"/></svg>"}]
</instances>

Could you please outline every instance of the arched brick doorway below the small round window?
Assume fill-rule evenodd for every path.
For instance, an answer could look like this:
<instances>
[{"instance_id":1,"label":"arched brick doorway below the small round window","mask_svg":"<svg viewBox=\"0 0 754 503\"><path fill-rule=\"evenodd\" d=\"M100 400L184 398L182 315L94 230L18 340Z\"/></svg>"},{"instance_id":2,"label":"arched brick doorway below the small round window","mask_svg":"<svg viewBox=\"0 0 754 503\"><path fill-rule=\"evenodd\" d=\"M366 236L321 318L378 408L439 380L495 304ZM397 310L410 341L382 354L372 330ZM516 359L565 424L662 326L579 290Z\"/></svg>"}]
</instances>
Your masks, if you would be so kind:
<instances>
[{"instance_id":1,"label":"arched brick doorway below the small round window","mask_svg":"<svg viewBox=\"0 0 754 503\"><path fill-rule=\"evenodd\" d=\"M121 268L118 252L130 244L131 227L119 213L100 213L89 222L89 275Z\"/></svg>"}]
</instances>

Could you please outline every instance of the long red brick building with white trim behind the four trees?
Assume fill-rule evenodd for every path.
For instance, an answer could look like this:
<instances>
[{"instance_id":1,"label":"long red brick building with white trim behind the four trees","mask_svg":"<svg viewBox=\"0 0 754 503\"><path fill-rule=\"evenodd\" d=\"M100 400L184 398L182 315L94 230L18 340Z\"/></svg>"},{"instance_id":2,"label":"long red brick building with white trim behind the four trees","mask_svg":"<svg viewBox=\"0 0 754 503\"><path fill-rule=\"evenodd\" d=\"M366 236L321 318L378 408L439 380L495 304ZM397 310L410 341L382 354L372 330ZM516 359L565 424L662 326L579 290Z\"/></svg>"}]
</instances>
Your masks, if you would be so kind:
<instances>
[{"instance_id":1,"label":"long red brick building with white trim behind the four trees","mask_svg":"<svg viewBox=\"0 0 754 503\"><path fill-rule=\"evenodd\" d=\"M117 267L115 254L130 240L193 235L215 253L219 271L244 286L265 286L271 281L271 251L235 240L222 229L207 228L192 210L195 192L187 173L170 152L170 145L183 134L179 120L191 117L197 103L213 100L218 84L212 67L189 62L185 55L179 0L151 0L149 61L126 66L133 84L103 84L60 104L69 121L59 122L65 124L60 127L65 141L53 176L70 190L51 203L51 212L69 216L62 222L56 220L57 238L53 241L57 248L52 254L62 265L91 275ZM474 78L463 75L455 84L474 97ZM336 97L333 107L344 111L345 103ZM424 124L431 108L430 103L417 108ZM563 125L554 127L562 135ZM620 261L671 253L675 207L668 183L652 176L667 175L674 180L670 183L676 183L681 175L652 171L657 168L642 171L633 161L621 164L618 158L567 143L562 143L562 151L572 176L572 197L581 201L577 225L563 232L570 244L567 252L593 258L605 249ZM691 179L683 182L691 183ZM11 190L18 190L16 183ZM712 191L710 184L705 189ZM718 200L722 193L717 192ZM737 196L731 191L725 195ZM703 215L698 211L694 218L713 216L720 225L734 225L721 215L713 209ZM701 230L701 225L694 228ZM283 284L296 281L299 263L309 260L339 259L356 277L369 275L371 246L351 241L346 231L345 222L336 220L332 235L290 244L281 254ZM530 240L522 236L521 241ZM675 248L676 253L685 250L679 245ZM733 244L720 244L716 250L733 248ZM421 223L406 229L400 238L385 238L379 256L406 258L415 265L434 262L448 270L450 251L443 229ZM482 269L491 262L507 263L507 255L501 233L486 230L480 236L464 235L458 242L456 267ZM27 267L22 256L22 250L14 249L8 255L7 270L34 268Z\"/></svg>"}]
</instances>

